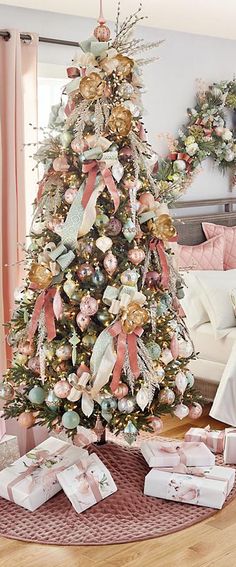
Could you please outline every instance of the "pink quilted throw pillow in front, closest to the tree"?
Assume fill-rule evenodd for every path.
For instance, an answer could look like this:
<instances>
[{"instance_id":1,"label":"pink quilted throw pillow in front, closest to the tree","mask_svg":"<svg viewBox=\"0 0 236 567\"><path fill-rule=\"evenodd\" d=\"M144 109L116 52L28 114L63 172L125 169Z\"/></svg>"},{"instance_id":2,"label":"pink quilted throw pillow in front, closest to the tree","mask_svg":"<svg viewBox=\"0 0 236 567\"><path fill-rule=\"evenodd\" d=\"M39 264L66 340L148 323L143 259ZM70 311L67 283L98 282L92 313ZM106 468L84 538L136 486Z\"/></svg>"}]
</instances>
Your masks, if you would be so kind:
<instances>
[{"instance_id":1,"label":"pink quilted throw pillow in front, closest to the tree","mask_svg":"<svg viewBox=\"0 0 236 567\"><path fill-rule=\"evenodd\" d=\"M185 270L223 270L224 237L215 236L202 244L178 245L179 268Z\"/></svg>"}]
</instances>

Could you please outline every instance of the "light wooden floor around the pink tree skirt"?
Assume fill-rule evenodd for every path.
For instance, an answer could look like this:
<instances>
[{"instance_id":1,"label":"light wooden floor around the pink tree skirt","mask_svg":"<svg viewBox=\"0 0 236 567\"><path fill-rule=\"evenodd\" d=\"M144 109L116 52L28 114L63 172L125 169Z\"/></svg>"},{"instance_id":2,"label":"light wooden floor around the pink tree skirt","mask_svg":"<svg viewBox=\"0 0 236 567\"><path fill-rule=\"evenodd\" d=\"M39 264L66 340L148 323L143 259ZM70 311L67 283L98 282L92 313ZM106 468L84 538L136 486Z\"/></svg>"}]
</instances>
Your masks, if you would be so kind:
<instances>
[{"instance_id":1,"label":"light wooden floor around the pink tree skirt","mask_svg":"<svg viewBox=\"0 0 236 567\"><path fill-rule=\"evenodd\" d=\"M181 438L189 423L167 418L164 435ZM207 423L223 427L207 415L198 420ZM236 567L236 500L191 528L137 543L57 547L0 538L0 567Z\"/></svg>"}]
</instances>

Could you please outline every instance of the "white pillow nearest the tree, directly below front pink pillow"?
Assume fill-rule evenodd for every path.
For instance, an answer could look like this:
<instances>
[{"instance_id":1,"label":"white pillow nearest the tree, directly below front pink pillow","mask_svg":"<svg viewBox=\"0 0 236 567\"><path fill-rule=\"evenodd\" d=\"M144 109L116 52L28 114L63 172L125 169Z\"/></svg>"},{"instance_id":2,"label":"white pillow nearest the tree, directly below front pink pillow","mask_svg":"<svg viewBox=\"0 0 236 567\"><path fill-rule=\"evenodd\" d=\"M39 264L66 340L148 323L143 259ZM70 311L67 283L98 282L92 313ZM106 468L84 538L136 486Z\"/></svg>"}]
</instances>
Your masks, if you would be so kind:
<instances>
[{"instance_id":1,"label":"white pillow nearest the tree, directly below front pink pillow","mask_svg":"<svg viewBox=\"0 0 236 567\"><path fill-rule=\"evenodd\" d=\"M184 297L180 300L180 304L185 312L186 324L189 329L196 329L203 323L210 321L209 315L201 301L199 283L196 278L198 273L201 272L196 270L194 272L181 273L186 285L184 286Z\"/></svg>"}]
</instances>

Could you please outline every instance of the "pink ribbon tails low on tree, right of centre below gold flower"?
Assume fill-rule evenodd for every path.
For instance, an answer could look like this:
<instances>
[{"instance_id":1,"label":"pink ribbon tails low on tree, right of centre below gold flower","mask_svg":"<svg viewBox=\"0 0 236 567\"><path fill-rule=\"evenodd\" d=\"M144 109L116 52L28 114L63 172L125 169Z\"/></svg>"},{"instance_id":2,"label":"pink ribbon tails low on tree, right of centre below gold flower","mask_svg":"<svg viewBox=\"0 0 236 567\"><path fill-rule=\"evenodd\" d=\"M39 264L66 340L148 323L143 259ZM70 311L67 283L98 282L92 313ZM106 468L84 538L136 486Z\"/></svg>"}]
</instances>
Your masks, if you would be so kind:
<instances>
[{"instance_id":1,"label":"pink ribbon tails low on tree, right of centre below gold flower","mask_svg":"<svg viewBox=\"0 0 236 567\"><path fill-rule=\"evenodd\" d=\"M138 349L137 338L141 337L143 333L142 327L136 327L133 333L125 333L122 329L120 321L117 321L108 329L112 337L117 339L117 359L113 370L112 381L110 384L111 391L114 392L120 383L121 371L125 361L126 348L128 348L128 355L130 361L130 368L135 378L140 375L140 368L138 366Z\"/></svg>"}]
</instances>

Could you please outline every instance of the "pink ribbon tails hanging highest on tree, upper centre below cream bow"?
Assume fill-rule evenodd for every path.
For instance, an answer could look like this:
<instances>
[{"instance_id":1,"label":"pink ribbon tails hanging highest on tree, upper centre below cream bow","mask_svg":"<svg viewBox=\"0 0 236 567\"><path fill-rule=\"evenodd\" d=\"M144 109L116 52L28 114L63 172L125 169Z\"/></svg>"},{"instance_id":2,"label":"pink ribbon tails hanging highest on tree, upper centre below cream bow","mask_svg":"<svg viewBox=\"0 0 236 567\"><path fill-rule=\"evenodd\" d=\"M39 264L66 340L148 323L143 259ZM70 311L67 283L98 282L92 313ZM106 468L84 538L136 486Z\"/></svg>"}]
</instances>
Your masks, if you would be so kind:
<instances>
[{"instance_id":1,"label":"pink ribbon tails hanging highest on tree, upper centre below cream bow","mask_svg":"<svg viewBox=\"0 0 236 567\"><path fill-rule=\"evenodd\" d=\"M112 201L114 203L114 212L116 212L120 204L118 189L116 187L110 169L106 166L105 162L102 161L98 162L96 160L93 160L90 161L89 163L83 164L83 173L88 173L88 177L81 201L82 206L84 207L84 209L86 208L89 199L93 193L96 177L99 172L101 173L105 186L107 187L111 195Z\"/></svg>"}]
</instances>

